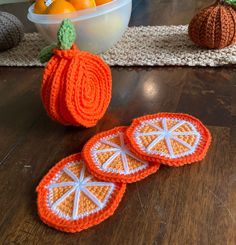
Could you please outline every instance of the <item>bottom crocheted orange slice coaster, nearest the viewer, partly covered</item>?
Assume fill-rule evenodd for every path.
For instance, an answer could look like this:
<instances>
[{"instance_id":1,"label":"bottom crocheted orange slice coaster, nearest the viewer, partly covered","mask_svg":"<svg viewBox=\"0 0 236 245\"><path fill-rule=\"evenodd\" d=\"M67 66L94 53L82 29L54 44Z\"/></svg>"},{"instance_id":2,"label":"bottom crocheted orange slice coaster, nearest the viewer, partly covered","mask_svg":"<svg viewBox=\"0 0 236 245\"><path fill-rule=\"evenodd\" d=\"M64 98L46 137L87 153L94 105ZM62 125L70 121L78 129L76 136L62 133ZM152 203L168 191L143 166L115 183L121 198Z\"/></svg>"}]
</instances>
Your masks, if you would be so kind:
<instances>
[{"instance_id":1,"label":"bottom crocheted orange slice coaster, nearest the viewer, partly covered","mask_svg":"<svg viewBox=\"0 0 236 245\"><path fill-rule=\"evenodd\" d=\"M90 175L81 154L57 163L37 187L38 213L47 225L79 232L97 225L116 210L126 185Z\"/></svg>"}]
</instances>

